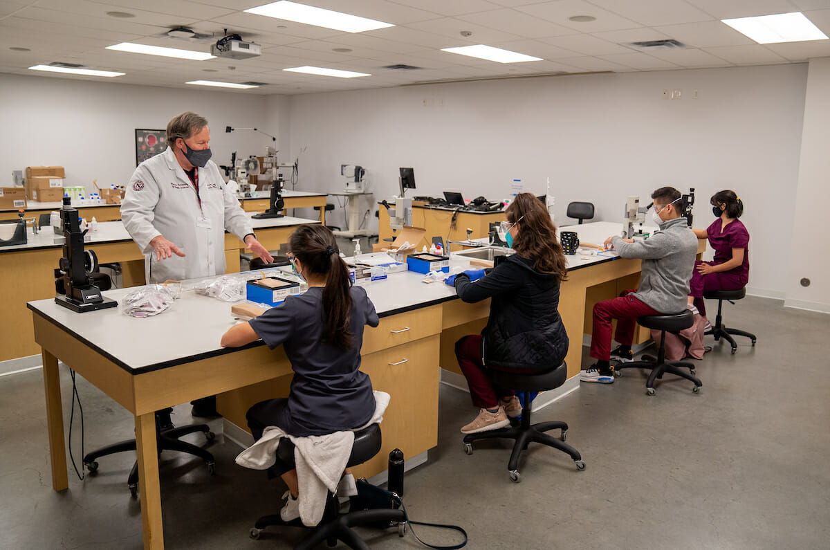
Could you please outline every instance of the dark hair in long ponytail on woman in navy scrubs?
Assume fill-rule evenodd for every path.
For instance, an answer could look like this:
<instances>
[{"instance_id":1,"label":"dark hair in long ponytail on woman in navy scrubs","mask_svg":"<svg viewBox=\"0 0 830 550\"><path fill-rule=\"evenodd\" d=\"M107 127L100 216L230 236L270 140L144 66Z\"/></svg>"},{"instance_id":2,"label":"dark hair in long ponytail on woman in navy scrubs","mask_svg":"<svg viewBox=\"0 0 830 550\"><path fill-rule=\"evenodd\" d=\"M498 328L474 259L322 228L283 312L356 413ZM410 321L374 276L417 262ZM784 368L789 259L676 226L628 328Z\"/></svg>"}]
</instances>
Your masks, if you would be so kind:
<instances>
[{"instance_id":1,"label":"dark hair in long ponytail on woman in navy scrubs","mask_svg":"<svg viewBox=\"0 0 830 550\"><path fill-rule=\"evenodd\" d=\"M291 253L309 273L325 275L323 287L323 322L325 343L340 350L354 346L349 327L352 314L352 282L349 268L339 256L337 241L330 228L323 225L300 225L289 239Z\"/></svg>"}]
</instances>

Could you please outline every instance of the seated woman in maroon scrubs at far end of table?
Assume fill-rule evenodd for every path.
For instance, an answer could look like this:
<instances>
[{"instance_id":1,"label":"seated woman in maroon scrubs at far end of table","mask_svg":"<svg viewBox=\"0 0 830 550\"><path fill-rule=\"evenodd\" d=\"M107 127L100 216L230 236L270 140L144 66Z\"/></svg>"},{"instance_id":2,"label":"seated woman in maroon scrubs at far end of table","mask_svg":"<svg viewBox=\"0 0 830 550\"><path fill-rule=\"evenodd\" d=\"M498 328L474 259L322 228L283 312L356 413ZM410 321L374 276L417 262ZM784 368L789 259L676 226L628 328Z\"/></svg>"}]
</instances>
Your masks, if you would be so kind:
<instances>
[{"instance_id":1,"label":"seated woman in maroon scrubs at far end of table","mask_svg":"<svg viewBox=\"0 0 830 550\"><path fill-rule=\"evenodd\" d=\"M689 303L694 303L706 316L703 293L713 290L740 290L749 281L749 231L740 221L744 203L735 191L724 190L712 195L715 219L706 229L692 229L697 238L709 238L715 250L711 262L695 262L689 282Z\"/></svg>"}]
</instances>

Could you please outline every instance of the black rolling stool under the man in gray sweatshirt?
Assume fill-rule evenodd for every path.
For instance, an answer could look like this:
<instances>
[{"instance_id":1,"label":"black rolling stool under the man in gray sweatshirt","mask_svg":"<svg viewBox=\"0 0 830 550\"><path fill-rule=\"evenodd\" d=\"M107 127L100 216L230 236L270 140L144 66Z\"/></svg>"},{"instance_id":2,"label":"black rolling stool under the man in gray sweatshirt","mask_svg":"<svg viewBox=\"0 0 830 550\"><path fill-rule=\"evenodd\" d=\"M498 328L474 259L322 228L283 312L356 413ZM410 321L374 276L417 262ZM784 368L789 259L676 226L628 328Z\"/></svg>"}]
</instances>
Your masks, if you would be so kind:
<instances>
[{"instance_id":1,"label":"black rolling stool under the man in gray sweatshirt","mask_svg":"<svg viewBox=\"0 0 830 550\"><path fill-rule=\"evenodd\" d=\"M666 332L676 334L685 328L691 327L695 324L695 314L686 309L683 312L669 315L645 315L643 317L637 317L637 323L643 327L660 331L660 347L657 348L657 360L643 356L644 361L620 363L614 366L614 374L621 376L619 371L630 368L651 369L652 373L646 381L646 393L648 395L654 395L654 381L662 378L666 372L669 372L694 382L695 386L691 390L697 393L703 383L695 376L694 364L686 361L666 361ZM689 371L681 370L684 368L689 369Z\"/></svg>"}]
</instances>

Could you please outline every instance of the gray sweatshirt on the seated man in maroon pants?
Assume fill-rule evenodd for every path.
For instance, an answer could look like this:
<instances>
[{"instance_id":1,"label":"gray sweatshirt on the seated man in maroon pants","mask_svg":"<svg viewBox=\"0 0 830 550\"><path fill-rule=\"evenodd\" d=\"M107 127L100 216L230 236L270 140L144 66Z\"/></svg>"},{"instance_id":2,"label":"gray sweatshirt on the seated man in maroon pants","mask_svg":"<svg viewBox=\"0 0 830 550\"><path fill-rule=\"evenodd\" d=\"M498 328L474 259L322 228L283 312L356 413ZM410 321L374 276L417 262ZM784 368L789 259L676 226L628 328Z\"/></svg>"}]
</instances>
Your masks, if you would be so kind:
<instances>
[{"instance_id":1,"label":"gray sweatshirt on the seated man in maroon pants","mask_svg":"<svg viewBox=\"0 0 830 550\"><path fill-rule=\"evenodd\" d=\"M661 313L684 310L697 254L697 237L685 218L661 223L660 231L644 241L626 243L614 236L611 243L620 258L642 259L637 299Z\"/></svg>"}]
</instances>

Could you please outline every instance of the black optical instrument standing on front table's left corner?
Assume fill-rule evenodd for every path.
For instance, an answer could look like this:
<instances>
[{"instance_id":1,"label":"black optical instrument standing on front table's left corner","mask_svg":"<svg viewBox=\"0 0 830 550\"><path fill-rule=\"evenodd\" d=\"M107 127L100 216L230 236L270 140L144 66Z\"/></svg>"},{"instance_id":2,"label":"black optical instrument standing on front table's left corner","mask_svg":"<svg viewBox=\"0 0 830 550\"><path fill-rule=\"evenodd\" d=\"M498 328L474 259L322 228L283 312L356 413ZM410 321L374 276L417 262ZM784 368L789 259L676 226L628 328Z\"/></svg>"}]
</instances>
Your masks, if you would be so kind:
<instances>
[{"instance_id":1,"label":"black optical instrument standing on front table's left corner","mask_svg":"<svg viewBox=\"0 0 830 550\"><path fill-rule=\"evenodd\" d=\"M93 312L98 309L118 306L118 302L101 295L100 288L86 273L84 264L84 235L78 219L78 210L70 206L69 197L64 197L61 207L61 225L66 241L63 243L62 273L64 294L58 294L55 302L73 312Z\"/></svg>"}]
</instances>

